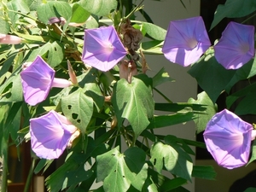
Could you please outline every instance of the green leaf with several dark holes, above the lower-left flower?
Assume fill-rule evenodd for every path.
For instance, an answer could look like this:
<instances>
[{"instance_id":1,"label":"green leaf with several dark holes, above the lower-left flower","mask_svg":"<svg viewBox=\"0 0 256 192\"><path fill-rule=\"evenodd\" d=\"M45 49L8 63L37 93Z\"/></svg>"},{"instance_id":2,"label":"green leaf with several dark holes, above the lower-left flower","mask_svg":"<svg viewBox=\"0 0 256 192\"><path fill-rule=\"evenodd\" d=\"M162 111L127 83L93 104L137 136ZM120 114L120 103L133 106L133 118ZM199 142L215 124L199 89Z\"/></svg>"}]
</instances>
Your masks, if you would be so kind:
<instances>
[{"instance_id":1,"label":"green leaf with several dark holes, above the lower-left flower","mask_svg":"<svg viewBox=\"0 0 256 192\"><path fill-rule=\"evenodd\" d=\"M61 108L67 119L85 134L93 113L92 98L79 89L61 98Z\"/></svg>"}]
</instances>

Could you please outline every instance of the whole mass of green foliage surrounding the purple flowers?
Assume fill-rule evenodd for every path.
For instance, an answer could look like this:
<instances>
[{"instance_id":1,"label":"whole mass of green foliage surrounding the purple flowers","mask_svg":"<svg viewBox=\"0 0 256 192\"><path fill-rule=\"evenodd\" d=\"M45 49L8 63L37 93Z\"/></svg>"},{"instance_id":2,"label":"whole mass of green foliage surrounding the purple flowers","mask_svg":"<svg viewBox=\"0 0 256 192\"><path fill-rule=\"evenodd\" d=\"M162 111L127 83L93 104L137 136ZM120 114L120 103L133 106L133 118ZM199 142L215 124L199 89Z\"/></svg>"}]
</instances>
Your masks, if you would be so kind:
<instances>
[{"instance_id":1,"label":"whole mass of green foliage surrounding the purple flowers","mask_svg":"<svg viewBox=\"0 0 256 192\"><path fill-rule=\"evenodd\" d=\"M195 134L204 131L218 112L215 102L224 92L228 95L227 108L234 108L236 114L256 114L252 104L255 83L250 82L256 75L256 61L252 59L237 70L226 70L215 59L212 47L188 71L203 90L197 98L172 102L164 96L157 87L165 84L172 91L168 84L174 79L164 67L152 71L153 78L146 71L147 65L150 68L147 55L163 56L166 29L154 24L137 1L10 0L0 2L0 7L0 33L20 37L22 42L0 44L0 156L7 158L9 145L18 147L29 141L29 120L49 110L63 114L82 133L62 154L65 162L46 178L45 185L51 192L188 191L183 185L192 177L216 177L212 166L195 166L191 157L195 155L191 146L206 148L205 143L155 134L154 130L169 127L172 131L174 125L193 120ZM212 27L225 17L241 17L254 10L253 1L228 0L218 6ZM137 20L137 14L146 22ZM61 17L66 22L61 23ZM49 23L51 18L58 21ZM129 50L124 58L129 63L128 77L120 79L119 73L124 72L119 63L108 72L84 65L84 29L113 25L124 43L121 26L127 19L131 20L130 30L133 26L143 36L138 49L134 53ZM128 30L129 38L131 34ZM72 71L77 82L64 89L50 89L44 102L30 106L24 102L20 72L25 62L34 61L38 55L55 70L55 78L73 81L69 75ZM137 74L131 75L131 61ZM73 70L68 69L67 62ZM234 92L234 85L241 80L248 85ZM153 90L167 103L155 103ZM254 142L248 163L256 159L255 145ZM36 158L35 154L32 158ZM38 160L33 172L44 173L53 162ZM166 172L173 177L164 176ZM7 176L7 172L4 174ZM102 186L91 189L95 181L102 182Z\"/></svg>"}]
</instances>

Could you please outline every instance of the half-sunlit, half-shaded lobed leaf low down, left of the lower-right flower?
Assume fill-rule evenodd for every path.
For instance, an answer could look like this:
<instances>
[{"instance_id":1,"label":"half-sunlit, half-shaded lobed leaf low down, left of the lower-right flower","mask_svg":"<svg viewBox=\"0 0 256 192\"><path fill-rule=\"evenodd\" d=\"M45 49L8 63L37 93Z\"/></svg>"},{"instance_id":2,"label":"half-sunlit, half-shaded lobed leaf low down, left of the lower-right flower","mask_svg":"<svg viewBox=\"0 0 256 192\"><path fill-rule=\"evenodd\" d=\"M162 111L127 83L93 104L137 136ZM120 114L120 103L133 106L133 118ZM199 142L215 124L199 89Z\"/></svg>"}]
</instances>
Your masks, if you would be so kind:
<instances>
[{"instance_id":1,"label":"half-sunlit, half-shaded lobed leaf low down, left of the lower-right flower","mask_svg":"<svg viewBox=\"0 0 256 192\"><path fill-rule=\"evenodd\" d=\"M172 143L167 137L166 141ZM172 145L161 142L154 143L150 155L150 161L157 172L160 173L165 166L168 172L191 181L193 168L191 157L174 143Z\"/></svg>"}]
</instances>

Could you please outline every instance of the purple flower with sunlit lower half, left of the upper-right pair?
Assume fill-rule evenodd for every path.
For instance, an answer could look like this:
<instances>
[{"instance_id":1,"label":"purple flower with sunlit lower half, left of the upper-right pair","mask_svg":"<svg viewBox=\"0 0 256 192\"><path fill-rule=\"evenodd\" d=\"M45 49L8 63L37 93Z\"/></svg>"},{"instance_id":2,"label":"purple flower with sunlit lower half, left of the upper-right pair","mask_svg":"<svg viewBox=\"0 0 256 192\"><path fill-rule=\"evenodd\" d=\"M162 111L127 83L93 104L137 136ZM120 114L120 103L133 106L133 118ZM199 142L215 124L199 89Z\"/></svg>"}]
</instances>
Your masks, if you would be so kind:
<instances>
[{"instance_id":1,"label":"purple flower with sunlit lower half, left of the upper-right pair","mask_svg":"<svg viewBox=\"0 0 256 192\"><path fill-rule=\"evenodd\" d=\"M198 16L171 21L162 51L169 61L187 67L210 46L204 21Z\"/></svg>"}]
</instances>

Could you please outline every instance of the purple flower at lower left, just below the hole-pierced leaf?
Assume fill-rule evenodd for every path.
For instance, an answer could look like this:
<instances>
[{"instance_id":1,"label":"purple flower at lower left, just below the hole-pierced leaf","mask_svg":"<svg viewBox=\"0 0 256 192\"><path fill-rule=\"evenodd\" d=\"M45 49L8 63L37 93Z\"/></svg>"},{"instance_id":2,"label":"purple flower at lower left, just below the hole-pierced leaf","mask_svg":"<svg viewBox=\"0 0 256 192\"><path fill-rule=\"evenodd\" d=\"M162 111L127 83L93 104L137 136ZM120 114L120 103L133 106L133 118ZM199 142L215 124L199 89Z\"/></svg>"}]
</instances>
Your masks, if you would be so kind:
<instances>
[{"instance_id":1,"label":"purple flower at lower left, just below the hole-pierced leaf","mask_svg":"<svg viewBox=\"0 0 256 192\"><path fill-rule=\"evenodd\" d=\"M76 131L77 128L65 116L53 110L41 117L30 119L32 150L39 158L59 158Z\"/></svg>"}]
</instances>

